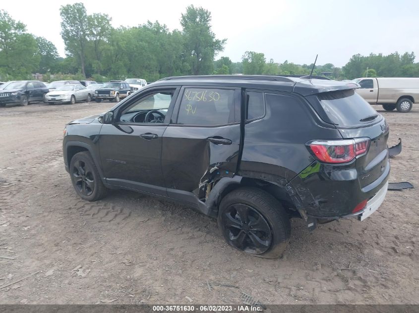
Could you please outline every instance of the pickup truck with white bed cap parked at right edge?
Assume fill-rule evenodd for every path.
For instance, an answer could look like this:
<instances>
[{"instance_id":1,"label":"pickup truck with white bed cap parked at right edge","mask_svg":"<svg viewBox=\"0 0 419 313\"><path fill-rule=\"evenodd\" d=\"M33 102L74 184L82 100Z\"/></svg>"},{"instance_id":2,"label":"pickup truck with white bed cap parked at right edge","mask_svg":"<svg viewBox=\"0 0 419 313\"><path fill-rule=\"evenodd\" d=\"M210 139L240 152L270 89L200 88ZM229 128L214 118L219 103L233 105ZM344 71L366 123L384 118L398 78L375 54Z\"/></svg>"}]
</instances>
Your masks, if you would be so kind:
<instances>
[{"instance_id":1,"label":"pickup truck with white bed cap parked at right edge","mask_svg":"<svg viewBox=\"0 0 419 313\"><path fill-rule=\"evenodd\" d=\"M369 104L381 104L386 111L407 113L419 101L419 78L354 79L361 88L355 89Z\"/></svg>"}]
</instances>

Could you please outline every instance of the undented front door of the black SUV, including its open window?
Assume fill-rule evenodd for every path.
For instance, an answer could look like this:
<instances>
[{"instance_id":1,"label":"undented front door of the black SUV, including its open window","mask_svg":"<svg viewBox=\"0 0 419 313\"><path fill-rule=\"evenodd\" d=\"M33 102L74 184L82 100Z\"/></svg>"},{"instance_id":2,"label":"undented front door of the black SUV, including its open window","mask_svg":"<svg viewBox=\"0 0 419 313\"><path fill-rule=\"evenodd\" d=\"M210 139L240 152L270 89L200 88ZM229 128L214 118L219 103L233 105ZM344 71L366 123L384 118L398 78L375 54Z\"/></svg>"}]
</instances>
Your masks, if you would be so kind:
<instances>
[{"instance_id":1,"label":"undented front door of the black SUV, including its open window","mask_svg":"<svg viewBox=\"0 0 419 313\"><path fill-rule=\"evenodd\" d=\"M162 136L176 89L151 89L126 101L115 123L102 126L99 147L107 182L166 195L161 170Z\"/></svg>"}]
</instances>

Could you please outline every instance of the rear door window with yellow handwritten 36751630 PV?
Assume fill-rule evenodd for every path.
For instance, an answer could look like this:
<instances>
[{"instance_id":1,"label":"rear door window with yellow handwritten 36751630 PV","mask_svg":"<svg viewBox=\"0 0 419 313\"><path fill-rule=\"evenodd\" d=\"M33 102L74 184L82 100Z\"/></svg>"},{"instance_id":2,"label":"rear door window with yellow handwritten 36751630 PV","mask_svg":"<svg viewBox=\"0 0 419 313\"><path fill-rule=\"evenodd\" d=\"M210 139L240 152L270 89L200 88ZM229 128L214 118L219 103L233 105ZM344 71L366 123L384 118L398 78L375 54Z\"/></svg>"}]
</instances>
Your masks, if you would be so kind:
<instances>
[{"instance_id":1,"label":"rear door window with yellow handwritten 36751630 PV","mask_svg":"<svg viewBox=\"0 0 419 313\"><path fill-rule=\"evenodd\" d=\"M186 88L180 102L178 124L223 125L240 120L234 90Z\"/></svg>"}]
</instances>

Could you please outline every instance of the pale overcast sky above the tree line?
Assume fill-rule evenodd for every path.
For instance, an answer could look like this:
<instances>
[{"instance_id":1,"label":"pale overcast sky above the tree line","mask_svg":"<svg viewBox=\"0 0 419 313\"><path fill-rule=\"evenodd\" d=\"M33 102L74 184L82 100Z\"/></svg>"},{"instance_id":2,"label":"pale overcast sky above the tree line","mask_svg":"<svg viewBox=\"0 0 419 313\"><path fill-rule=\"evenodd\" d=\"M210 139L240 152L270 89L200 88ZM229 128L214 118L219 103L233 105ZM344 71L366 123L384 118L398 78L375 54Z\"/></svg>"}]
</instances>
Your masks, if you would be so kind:
<instances>
[{"instance_id":1,"label":"pale overcast sky above the tree line","mask_svg":"<svg viewBox=\"0 0 419 313\"><path fill-rule=\"evenodd\" d=\"M27 31L54 43L65 55L60 36L60 6L83 2L88 14L106 13L112 25L137 26L158 20L180 29L189 4L212 14L212 30L227 39L216 56L241 60L245 51L263 52L266 60L345 65L360 53L415 52L419 62L419 1L417 0L18 0L1 1Z\"/></svg>"}]
</instances>

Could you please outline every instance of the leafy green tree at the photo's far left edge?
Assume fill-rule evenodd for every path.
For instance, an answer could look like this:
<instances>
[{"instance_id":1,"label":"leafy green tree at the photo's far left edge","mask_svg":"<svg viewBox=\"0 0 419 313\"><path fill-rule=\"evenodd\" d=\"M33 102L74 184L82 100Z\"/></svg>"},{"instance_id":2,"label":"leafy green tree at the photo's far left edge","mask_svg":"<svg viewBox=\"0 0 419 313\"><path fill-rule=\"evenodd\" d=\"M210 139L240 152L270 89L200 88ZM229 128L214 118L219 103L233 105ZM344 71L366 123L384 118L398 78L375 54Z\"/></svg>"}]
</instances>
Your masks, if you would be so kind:
<instances>
[{"instance_id":1,"label":"leafy green tree at the photo's far left edge","mask_svg":"<svg viewBox=\"0 0 419 313\"><path fill-rule=\"evenodd\" d=\"M2 79L26 79L39 65L34 37L26 26L0 10L0 75Z\"/></svg>"}]
</instances>

